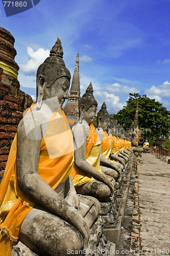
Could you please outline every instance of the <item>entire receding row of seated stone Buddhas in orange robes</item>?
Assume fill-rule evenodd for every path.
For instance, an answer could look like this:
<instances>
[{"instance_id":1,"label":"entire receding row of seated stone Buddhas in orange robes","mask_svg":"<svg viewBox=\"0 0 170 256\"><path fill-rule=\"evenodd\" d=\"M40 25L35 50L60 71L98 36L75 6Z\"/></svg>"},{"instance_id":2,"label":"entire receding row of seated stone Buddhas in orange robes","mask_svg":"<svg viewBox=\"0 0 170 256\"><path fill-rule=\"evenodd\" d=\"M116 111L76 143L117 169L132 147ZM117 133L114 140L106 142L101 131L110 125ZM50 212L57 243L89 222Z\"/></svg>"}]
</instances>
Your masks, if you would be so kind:
<instances>
[{"instance_id":1,"label":"entire receding row of seated stone Buddhas in orange robes","mask_svg":"<svg viewBox=\"0 0 170 256\"><path fill-rule=\"evenodd\" d=\"M87 248L100 202L115 193L132 146L104 103L97 114L92 84L70 130L62 110L70 72L60 38L37 70L37 100L20 121L0 185L0 254L17 239L35 255L67 255ZM97 116L97 127L92 122ZM108 129L108 133L106 130ZM74 255L74 254L72 254Z\"/></svg>"}]
</instances>

